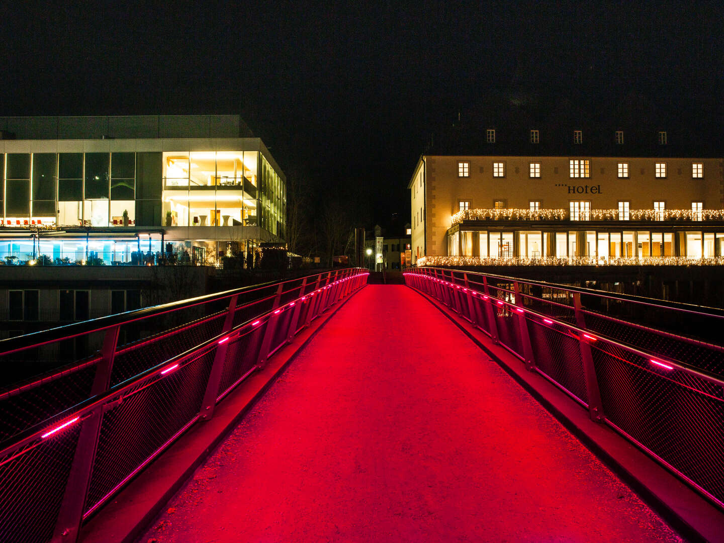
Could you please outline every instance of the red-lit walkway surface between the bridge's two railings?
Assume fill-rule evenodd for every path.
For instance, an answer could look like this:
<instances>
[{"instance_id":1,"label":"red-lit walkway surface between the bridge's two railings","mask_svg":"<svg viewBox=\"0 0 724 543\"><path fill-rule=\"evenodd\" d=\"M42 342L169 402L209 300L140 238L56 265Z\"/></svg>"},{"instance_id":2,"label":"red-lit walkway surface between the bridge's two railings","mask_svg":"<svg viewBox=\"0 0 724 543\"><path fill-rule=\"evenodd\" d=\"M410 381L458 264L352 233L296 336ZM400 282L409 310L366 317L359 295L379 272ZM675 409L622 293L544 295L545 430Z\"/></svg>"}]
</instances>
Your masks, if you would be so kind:
<instances>
[{"instance_id":1,"label":"red-lit walkway surface between the bridge's two railings","mask_svg":"<svg viewBox=\"0 0 724 543\"><path fill-rule=\"evenodd\" d=\"M681 539L429 301L368 285L138 541Z\"/></svg>"}]
</instances>

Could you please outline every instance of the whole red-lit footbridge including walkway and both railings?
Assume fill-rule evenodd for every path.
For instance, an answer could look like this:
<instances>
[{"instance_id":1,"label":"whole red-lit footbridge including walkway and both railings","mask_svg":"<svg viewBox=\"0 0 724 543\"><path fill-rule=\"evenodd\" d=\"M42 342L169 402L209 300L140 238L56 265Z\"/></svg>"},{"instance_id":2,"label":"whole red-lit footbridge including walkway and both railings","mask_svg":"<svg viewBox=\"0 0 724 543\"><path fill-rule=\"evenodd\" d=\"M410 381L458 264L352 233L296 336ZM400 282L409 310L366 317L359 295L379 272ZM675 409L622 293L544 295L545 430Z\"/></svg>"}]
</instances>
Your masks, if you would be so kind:
<instances>
[{"instance_id":1,"label":"whole red-lit footbridge including walkway and both railings","mask_svg":"<svg viewBox=\"0 0 724 543\"><path fill-rule=\"evenodd\" d=\"M724 534L723 313L446 269L367 275L0 342L28 373L0 392L0 540Z\"/></svg>"}]
</instances>

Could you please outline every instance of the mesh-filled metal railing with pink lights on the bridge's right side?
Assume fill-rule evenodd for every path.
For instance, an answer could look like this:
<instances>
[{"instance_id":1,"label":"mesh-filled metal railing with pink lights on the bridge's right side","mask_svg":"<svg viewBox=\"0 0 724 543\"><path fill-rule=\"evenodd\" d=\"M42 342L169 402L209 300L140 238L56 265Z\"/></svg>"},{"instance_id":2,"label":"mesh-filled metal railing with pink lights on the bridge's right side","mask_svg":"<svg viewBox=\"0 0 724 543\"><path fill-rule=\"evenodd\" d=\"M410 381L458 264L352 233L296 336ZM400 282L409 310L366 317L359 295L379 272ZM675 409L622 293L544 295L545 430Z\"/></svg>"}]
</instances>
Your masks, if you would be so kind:
<instances>
[{"instance_id":1,"label":"mesh-filled metal railing with pink lights on the bridge's right side","mask_svg":"<svg viewBox=\"0 0 724 543\"><path fill-rule=\"evenodd\" d=\"M724 508L724 312L473 271L405 282Z\"/></svg>"}]
</instances>

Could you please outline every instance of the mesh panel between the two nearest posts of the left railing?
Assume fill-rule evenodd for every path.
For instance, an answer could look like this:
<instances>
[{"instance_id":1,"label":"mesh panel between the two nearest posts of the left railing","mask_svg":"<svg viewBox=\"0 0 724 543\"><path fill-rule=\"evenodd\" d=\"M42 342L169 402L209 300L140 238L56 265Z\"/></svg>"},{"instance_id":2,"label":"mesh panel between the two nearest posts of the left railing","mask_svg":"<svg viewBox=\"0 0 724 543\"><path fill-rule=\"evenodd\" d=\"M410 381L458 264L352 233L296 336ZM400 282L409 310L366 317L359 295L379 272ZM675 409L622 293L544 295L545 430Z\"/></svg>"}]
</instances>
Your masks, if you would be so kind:
<instances>
[{"instance_id":1,"label":"mesh panel between the two nearest posts of the left railing","mask_svg":"<svg viewBox=\"0 0 724 543\"><path fill-rule=\"evenodd\" d=\"M198 355L104 414L87 508L198 415L214 353L212 349Z\"/></svg>"}]
</instances>

